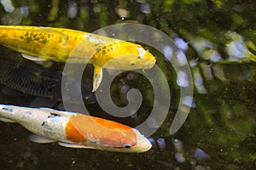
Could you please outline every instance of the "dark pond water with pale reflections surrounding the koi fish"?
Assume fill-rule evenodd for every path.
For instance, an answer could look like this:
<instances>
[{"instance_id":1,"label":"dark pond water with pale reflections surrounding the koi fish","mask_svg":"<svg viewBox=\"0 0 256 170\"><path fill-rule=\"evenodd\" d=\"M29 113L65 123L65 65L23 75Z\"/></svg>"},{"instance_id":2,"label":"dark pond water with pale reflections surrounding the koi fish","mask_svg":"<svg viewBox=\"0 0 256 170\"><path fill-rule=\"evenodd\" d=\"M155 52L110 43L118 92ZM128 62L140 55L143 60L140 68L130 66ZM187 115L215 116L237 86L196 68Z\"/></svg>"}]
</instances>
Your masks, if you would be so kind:
<instances>
[{"instance_id":1,"label":"dark pond water with pale reflections surrounding the koi fish","mask_svg":"<svg viewBox=\"0 0 256 170\"><path fill-rule=\"evenodd\" d=\"M0 122L0 169L254 169L255 8L253 1L231 0L2 0L1 25L49 26L87 32L121 23L152 26L157 31L151 35L144 34L145 30L133 31L131 40L148 35L146 41L151 38L150 41L158 44L150 47L149 42L141 43L154 54L162 74L157 72L149 77L146 73L150 69L145 70L146 76L143 71L123 71L111 82L110 99L102 94L102 88L97 97L90 93L91 65L86 67L82 78L84 95L89 98L84 104L90 115L131 127L138 127L146 120L146 127L154 132L147 136L153 144L148 152L128 154L69 149L56 143L35 144L27 139L31 133L19 124ZM172 45L162 41L158 31L172 39ZM117 37L118 33L119 30L113 30L108 36ZM0 104L64 109L60 72L65 64L53 61L36 64L1 46L0 65ZM13 71L18 65L22 69ZM12 79L8 83L3 81L7 74L3 74L4 70L10 71ZM54 97L43 96L37 90L32 94L32 86L35 88L37 84L25 85L28 89L25 91L14 89L22 86L14 77L30 80L38 71L57 79L53 82L58 85ZM102 81L106 82L104 77L114 74L104 70ZM158 83L158 94L154 94L152 82ZM50 84L47 86L50 88ZM188 87L193 92L191 96L186 91ZM131 88L137 88L141 94L132 98L128 94ZM129 110L131 116L118 116L120 110L113 105L124 107L129 101L140 103L141 98L141 105ZM101 108L103 104L112 105L115 115ZM72 105L68 110L80 111L75 102ZM151 117L153 112L157 116ZM182 126L177 132L173 128L170 131L171 126L177 127L173 125L175 122L179 123L175 121L177 114Z\"/></svg>"}]
</instances>

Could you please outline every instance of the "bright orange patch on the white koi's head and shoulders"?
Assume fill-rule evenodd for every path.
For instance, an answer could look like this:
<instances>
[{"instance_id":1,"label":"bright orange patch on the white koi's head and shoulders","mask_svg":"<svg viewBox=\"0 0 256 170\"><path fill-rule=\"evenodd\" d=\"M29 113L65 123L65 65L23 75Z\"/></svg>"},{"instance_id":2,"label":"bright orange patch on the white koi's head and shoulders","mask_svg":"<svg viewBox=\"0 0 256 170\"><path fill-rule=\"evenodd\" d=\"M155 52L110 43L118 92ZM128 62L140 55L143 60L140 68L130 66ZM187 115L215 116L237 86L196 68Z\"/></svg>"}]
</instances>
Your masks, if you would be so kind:
<instances>
[{"instance_id":1,"label":"bright orange patch on the white koi's head and shoulders","mask_svg":"<svg viewBox=\"0 0 256 170\"><path fill-rule=\"evenodd\" d=\"M137 144L137 133L131 127L118 122L77 114L69 118L67 124L69 123L76 129L76 135L81 135L90 141L98 141L99 144L112 147Z\"/></svg>"}]
</instances>

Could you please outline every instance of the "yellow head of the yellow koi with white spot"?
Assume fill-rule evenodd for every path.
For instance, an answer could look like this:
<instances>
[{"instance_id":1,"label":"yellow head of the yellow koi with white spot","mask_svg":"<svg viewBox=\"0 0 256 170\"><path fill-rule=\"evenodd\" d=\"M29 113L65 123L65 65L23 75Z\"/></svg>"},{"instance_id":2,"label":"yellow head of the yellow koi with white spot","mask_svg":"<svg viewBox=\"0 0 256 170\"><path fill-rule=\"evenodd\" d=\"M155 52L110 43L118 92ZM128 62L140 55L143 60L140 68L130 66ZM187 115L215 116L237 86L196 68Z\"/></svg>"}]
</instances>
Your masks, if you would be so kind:
<instances>
[{"instance_id":1,"label":"yellow head of the yellow koi with white spot","mask_svg":"<svg viewBox=\"0 0 256 170\"><path fill-rule=\"evenodd\" d=\"M104 57L100 65L113 70L149 69L156 61L141 45L119 40L102 48L102 54Z\"/></svg>"}]
</instances>

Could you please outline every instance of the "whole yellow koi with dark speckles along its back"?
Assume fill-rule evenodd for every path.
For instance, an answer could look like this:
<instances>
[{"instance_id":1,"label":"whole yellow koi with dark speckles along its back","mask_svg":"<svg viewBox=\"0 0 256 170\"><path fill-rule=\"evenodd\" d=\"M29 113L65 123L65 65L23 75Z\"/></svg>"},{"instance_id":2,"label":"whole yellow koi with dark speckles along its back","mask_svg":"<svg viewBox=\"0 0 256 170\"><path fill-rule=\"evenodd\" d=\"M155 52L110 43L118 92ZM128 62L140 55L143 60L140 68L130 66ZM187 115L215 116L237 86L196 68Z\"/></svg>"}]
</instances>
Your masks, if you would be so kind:
<instances>
[{"instance_id":1,"label":"whole yellow koi with dark speckles along its back","mask_svg":"<svg viewBox=\"0 0 256 170\"><path fill-rule=\"evenodd\" d=\"M88 61L94 65L93 92L102 82L102 68L144 70L155 64L154 56L138 44L64 28L0 26L0 44L26 59Z\"/></svg>"}]
</instances>

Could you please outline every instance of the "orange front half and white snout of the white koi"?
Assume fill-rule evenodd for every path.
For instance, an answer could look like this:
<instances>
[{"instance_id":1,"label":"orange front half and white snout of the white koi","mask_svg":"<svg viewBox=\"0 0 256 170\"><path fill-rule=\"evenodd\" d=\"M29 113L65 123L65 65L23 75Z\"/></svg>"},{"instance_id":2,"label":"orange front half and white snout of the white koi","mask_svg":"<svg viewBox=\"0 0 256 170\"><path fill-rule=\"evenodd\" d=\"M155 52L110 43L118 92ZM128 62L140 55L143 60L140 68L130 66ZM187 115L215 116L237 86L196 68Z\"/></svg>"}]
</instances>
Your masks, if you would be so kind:
<instances>
[{"instance_id":1,"label":"orange front half and white snout of the white koi","mask_svg":"<svg viewBox=\"0 0 256 170\"><path fill-rule=\"evenodd\" d=\"M97 150L130 153L142 153L152 147L148 139L137 129L119 122L81 114L72 116L70 122L67 127L67 139L77 144L84 144Z\"/></svg>"}]
</instances>

